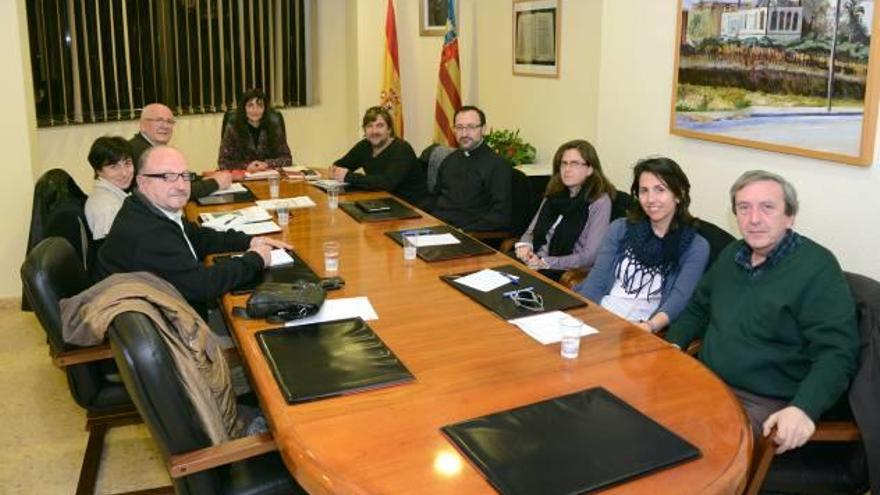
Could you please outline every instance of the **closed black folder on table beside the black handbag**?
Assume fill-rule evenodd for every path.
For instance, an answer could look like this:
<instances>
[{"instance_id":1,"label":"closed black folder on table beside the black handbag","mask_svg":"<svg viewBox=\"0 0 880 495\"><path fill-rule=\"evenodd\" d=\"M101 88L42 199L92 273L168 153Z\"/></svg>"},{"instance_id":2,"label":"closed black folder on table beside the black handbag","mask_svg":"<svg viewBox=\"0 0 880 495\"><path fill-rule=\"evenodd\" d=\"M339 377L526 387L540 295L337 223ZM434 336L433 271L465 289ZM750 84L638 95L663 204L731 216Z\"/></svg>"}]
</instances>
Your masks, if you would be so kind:
<instances>
[{"instance_id":1,"label":"closed black folder on table beside the black handbag","mask_svg":"<svg viewBox=\"0 0 880 495\"><path fill-rule=\"evenodd\" d=\"M360 318L263 330L257 341L288 404L414 380Z\"/></svg>"}]
</instances>

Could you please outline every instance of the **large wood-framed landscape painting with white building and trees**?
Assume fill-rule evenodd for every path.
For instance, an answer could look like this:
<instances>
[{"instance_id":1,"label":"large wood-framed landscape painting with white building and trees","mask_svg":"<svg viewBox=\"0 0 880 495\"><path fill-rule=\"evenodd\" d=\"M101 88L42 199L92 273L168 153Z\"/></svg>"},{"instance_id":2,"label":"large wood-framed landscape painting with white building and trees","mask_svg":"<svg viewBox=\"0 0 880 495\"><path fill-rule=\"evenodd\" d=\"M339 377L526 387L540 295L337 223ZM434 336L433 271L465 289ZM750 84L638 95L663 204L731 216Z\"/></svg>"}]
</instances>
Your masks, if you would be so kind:
<instances>
[{"instance_id":1,"label":"large wood-framed landscape painting with white building and trees","mask_svg":"<svg viewBox=\"0 0 880 495\"><path fill-rule=\"evenodd\" d=\"M868 165L874 0L679 0L670 132Z\"/></svg>"}]
</instances>

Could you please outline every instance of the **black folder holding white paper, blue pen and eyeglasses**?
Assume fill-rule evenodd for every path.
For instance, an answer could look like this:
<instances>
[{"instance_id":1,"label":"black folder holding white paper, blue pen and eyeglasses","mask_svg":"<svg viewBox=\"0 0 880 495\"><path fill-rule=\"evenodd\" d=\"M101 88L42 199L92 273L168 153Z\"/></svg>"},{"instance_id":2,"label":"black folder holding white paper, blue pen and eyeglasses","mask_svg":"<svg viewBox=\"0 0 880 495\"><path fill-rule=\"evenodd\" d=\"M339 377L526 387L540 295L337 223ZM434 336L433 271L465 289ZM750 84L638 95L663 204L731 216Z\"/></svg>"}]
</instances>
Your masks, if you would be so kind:
<instances>
[{"instance_id":1,"label":"black folder holding white paper, blue pen and eyeglasses","mask_svg":"<svg viewBox=\"0 0 880 495\"><path fill-rule=\"evenodd\" d=\"M441 275L440 279L460 290L465 295L467 295L474 301L482 304L484 307L486 307L486 309L493 311L495 314L504 318L505 320L522 318L523 316L531 316L539 313L545 313L547 311L563 311L566 309L578 308L587 305L587 303L578 299L577 297L574 297L573 295L560 289L559 287L556 287L539 279L528 270L522 270L516 265L494 266L492 267L492 270L505 273L513 277L518 277L516 283L511 282L489 292L482 292L455 281L456 279L464 277L465 275L475 273L474 271L454 273L450 275ZM519 308L513 303L513 299L510 298L509 295L506 295L509 294L511 291L521 290L527 287L532 287L534 293L540 294L541 297L544 299L543 310L531 311L525 308Z\"/></svg>"}]
</instances>

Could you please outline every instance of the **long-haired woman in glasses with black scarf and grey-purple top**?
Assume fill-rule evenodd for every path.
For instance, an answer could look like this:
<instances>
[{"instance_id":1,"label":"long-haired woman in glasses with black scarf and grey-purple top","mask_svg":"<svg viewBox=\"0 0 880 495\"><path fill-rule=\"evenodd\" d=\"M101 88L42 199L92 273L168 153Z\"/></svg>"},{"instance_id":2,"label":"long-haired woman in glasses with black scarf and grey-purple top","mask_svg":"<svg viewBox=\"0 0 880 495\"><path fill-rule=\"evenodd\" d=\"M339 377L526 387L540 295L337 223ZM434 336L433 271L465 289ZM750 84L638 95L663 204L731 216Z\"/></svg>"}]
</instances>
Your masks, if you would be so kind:
<instances>
[{"instance_id":1,"label":"long-haired woman in glasses with black scarf and grey-purple top","mask_svg":"<svg viewBox=\"0 0 880 495\"><path fill-rule=\"evenodd\" d=\"M617 190L602 172L599 155L583 139L564 143L553 157L553 177L516 257L559 280L565 270L589 270L608 230Z\"/></svg>"}]
</instances>

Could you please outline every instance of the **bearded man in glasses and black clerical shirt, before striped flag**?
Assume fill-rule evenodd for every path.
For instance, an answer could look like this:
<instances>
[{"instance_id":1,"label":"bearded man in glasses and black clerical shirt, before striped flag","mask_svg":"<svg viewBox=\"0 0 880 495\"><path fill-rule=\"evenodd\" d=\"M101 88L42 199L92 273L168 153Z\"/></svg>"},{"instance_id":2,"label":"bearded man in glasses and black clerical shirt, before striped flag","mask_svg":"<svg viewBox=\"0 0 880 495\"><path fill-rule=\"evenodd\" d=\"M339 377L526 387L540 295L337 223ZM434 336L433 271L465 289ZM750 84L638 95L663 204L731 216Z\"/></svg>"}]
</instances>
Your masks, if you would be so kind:
<instances>
[{"instance_id":1,"label":"bearded man in glasses and black clerical shirt, before striped flag","mask_svg":"<svg viewBox=\"0 0 880 495\"><path fill-rule=\"evenodd\" d=\"M512 165L483 141L486 116L474 106L455 112L459 148L437 173L431 213L466 231L510 227Z\"/></svg>"}]
</instances>

